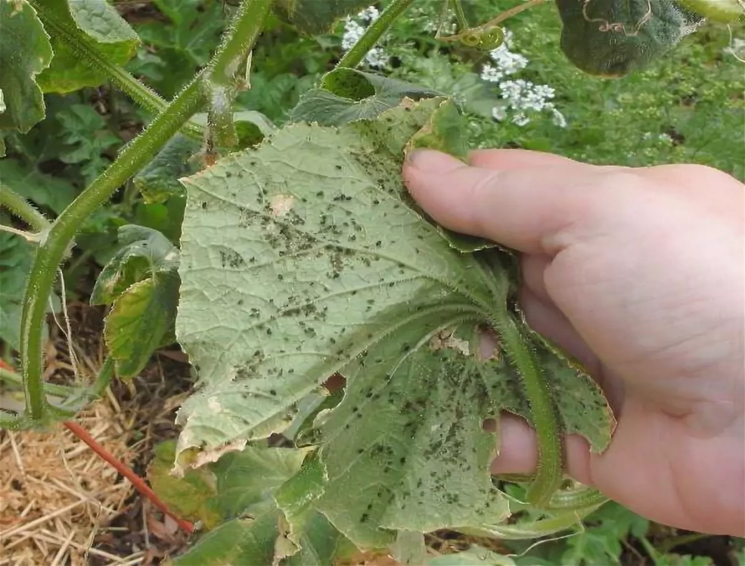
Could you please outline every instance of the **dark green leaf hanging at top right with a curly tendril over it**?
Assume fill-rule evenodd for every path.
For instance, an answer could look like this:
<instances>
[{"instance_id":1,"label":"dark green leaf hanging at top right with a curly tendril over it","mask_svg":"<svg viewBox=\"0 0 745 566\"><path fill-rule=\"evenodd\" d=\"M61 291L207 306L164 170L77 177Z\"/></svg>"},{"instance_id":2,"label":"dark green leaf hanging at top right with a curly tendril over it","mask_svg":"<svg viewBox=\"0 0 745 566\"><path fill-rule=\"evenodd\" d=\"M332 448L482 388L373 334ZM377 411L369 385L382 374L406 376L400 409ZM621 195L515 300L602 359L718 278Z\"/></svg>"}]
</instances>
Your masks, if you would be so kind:
<instances>
[{"instance_id":1,"label":"dark green leaf hanging at top right with a curly tendril over it","mask_svg":"<svg viewBox=\"0 0 745 566\"><path fill-rule=\"evenodd\" d=\"M703 18L675 0L557 0L561 48L577 68L622 77L659 59Z\"/></svg>"}]
</instances>

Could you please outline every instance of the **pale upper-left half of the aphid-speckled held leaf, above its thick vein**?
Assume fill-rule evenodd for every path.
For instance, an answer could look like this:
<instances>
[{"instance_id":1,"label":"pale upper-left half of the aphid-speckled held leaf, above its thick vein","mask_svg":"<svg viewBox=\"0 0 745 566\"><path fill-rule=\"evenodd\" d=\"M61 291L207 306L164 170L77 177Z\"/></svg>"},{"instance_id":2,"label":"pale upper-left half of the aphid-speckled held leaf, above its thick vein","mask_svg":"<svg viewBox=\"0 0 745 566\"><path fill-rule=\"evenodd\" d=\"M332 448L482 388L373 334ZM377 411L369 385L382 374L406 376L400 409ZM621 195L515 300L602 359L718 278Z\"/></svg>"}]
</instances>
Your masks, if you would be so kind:
<instances>
[{"instance_id":1,"label":"pale upper-left half of the aphid-speckled held leaf, above its thick vein","mask_svg":"<svg viewBox=\"0 0 745 566\"><path fill-rule=\"evenodd\" d=\"M177 334L204 387L180 412L180 450L252 438L415 299L445 312L489 304L464 268L475 260L443 252L401 197L402 149L440 104L397 110L390 130L295 124L184 179Z\"/></svg>"}]
</instances>

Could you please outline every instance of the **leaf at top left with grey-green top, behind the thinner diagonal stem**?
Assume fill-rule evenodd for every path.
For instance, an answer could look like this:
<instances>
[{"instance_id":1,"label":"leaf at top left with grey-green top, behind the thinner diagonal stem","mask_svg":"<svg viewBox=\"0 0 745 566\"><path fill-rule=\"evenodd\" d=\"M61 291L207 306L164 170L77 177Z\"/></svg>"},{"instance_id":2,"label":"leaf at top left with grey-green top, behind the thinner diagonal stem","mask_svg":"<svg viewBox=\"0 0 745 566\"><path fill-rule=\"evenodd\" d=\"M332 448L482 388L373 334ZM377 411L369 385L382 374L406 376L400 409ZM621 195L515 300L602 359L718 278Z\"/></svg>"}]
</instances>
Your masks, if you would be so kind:
<instances>
[{"instance_id":1,"label":"leaf at top left with grey-green top, behind the thinner diagonal stem","mask_svg":"<svg viewBox=\"0 0 745 566\"><path fill-rule=\"evenodd\" d=\"M72 92L108 79L75 45L95 50L116 65L124 65L137 51L137 34L107 0L34 0L34 7L54 49L51 66L39 75L44 92ZM70 37L75 39L70 41Z\"/></svg>"}]
</instances>

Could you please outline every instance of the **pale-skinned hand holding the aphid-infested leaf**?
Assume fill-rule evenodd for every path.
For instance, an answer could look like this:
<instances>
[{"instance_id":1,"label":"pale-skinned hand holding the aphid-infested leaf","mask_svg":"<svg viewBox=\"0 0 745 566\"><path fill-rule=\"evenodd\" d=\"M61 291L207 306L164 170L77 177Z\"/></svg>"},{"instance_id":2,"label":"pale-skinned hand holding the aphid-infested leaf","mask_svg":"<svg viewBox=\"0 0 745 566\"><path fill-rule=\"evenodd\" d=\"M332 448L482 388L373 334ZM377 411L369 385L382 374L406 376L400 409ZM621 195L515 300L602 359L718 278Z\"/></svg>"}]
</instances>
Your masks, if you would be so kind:
<instances>
[{"instance_id":1,"label":"pale-skinned hand holding the aphid-infested leaf","mask_svg":"<svg viewBox=\"0 0 745 566\"><path fill-rule=\"evenodd\" d=\"M745 185L524 150L418 150L403 175L443 226L521 252L527 322L609 396L611 445L569 436L568 473L653 521L745 536ZM492 471L535 466L535 434L504 416Z\"/></svg>"}]
</instances>

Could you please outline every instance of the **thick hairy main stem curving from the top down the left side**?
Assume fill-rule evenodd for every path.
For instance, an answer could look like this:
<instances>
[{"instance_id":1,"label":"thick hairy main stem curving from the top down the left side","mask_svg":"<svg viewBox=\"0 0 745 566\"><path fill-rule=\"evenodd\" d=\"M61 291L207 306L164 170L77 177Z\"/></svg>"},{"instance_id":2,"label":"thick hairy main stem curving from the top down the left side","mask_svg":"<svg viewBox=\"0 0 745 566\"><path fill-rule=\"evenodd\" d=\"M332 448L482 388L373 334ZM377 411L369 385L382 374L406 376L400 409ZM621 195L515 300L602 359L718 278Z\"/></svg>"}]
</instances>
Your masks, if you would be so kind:
<instances>
[{"instance_id":1,"label":"thick hairy main stem curving from the top down the left side","mask_svg":"<svg viewBox=\"0 0 745 566\"><path fill-rule=\"evenodd\" d=\"M109 200L127 179L147 165L188 118L199 111L206 101L205 93L209 90L206 80L209 80L214 69L226 69L227 63L241 56L238 53L239 48L247 51L253 47L253 42L264 27L269 4L269 0L243 1L235 14L233 25L226 32L228 37L215 53L208 72L197 74L168 108L150 123L145 132L124 148L115 162L60 214L49 231L48 238L39 246L28 278L21 319L20 353L29 419L41 421L45 416L42 325L57 266L63 261L66 249L83 221ZM237 34L242 36L234 40L233 36Z\"/></svg>"}]
</instances>

